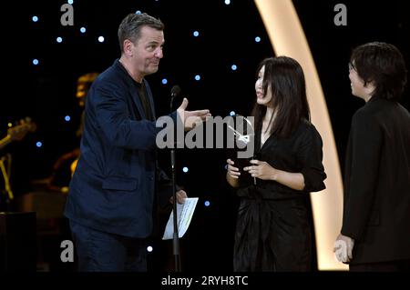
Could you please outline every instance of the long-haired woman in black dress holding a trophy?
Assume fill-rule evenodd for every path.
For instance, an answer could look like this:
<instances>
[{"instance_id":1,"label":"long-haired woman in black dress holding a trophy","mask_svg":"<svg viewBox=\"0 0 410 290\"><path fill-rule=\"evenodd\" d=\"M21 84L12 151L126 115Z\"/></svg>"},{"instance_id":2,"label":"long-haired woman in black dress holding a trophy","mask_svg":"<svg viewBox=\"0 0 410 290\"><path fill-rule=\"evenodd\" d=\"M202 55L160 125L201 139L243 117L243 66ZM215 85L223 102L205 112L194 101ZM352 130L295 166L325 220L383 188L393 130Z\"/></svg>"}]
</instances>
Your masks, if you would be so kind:
<instances>
[{"instance_id":1,"label":"long-haired woman in black dress holding a trophy","mask_svg":"<svg viewBox=\"0 0 410 290\"><path fill-rule=\"evenodd\" d=\"M255 84L255 158L243 171L228 159L227 181L241 198L234 271L310 271L310 192L325 188L322 138L310 123L302 66L264 59ZM249 183L254 177L256 183Z\"/></svg>"}]
</instances>

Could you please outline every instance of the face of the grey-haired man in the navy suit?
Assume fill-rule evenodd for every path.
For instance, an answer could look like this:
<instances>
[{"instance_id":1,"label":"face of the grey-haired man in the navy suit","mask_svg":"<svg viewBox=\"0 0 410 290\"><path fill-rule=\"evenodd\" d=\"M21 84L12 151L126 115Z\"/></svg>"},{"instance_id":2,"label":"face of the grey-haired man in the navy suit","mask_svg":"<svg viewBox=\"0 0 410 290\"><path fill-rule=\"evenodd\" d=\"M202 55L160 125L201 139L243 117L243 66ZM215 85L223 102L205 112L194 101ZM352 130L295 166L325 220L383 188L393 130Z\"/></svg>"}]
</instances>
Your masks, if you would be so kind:
<instances>
[{"instance_id":1,"label":"face of the grey-haired man in the navy suit","mask_svg":"<svg viewBox=\"0 0 410 290\"><path fill-rule=\"evenodd\" d=\"M133 65L139 75L151 75L158 71L164 45L164 32L149 26L141 28L140 37L133 45Z\"/></svg>"}]
</instances>

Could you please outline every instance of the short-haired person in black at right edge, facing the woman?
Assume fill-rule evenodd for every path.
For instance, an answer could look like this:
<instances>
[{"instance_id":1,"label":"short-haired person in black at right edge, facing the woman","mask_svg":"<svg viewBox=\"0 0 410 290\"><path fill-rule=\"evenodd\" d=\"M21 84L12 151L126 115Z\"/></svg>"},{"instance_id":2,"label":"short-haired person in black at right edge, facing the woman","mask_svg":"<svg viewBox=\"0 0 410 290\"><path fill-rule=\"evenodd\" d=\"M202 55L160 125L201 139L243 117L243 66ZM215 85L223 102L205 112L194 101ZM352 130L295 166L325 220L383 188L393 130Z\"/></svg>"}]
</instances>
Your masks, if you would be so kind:
<instances>
[{"instance_id":1,"label":"short-haired person in black at right edge, facing the woman","mask_svg":"<svg viewBox=\"0 0 410 290\"><path fill-rule=\"evenodd\" d=\"M408 271L410 114L397 102L406 84L403 55L394 45L360 45L349 78L366 104L352 120L334 251L351 271Z\"/></svg>"}]
</instances>

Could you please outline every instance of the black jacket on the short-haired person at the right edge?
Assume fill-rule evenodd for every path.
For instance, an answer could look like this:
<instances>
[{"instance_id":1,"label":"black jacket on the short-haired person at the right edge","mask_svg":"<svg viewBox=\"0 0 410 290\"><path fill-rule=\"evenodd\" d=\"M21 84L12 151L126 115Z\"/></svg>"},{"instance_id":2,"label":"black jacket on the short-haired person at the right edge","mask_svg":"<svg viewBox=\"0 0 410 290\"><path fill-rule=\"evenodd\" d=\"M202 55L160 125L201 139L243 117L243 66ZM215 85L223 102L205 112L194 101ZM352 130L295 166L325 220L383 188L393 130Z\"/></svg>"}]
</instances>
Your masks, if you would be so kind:
<instances>
[{"instance_id":1,"label":"black jacket on the short-haired person at the right edge","mask_svg":"<svg viewBox=\"0 0 410 290\"><path fill-rule=\"evenodd\" d=\"M410 114L402 105L373 97L354 114L343 205L351 264L410 258Z\"/></svg>"}]
</instances>

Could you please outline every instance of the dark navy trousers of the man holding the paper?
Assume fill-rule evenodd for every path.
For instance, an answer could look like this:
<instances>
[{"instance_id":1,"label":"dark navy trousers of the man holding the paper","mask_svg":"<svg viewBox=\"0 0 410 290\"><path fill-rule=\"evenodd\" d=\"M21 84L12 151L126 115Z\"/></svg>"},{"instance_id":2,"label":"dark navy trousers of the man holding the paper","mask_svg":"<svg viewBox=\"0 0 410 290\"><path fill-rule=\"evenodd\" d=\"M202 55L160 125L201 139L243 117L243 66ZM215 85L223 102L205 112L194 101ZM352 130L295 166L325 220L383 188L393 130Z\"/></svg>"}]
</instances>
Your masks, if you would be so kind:
<instances>
[{"instance_id":1,"label":"dark navy trousers of the man holding the paper","mask_svg":"<svg viewBox=\"0 0 410 290\"><path fill-rule=\"evenodd\" d=\"M144 239L97 231L70 221L80 272L147 272Z\"/></svg>"}]
</instances>

